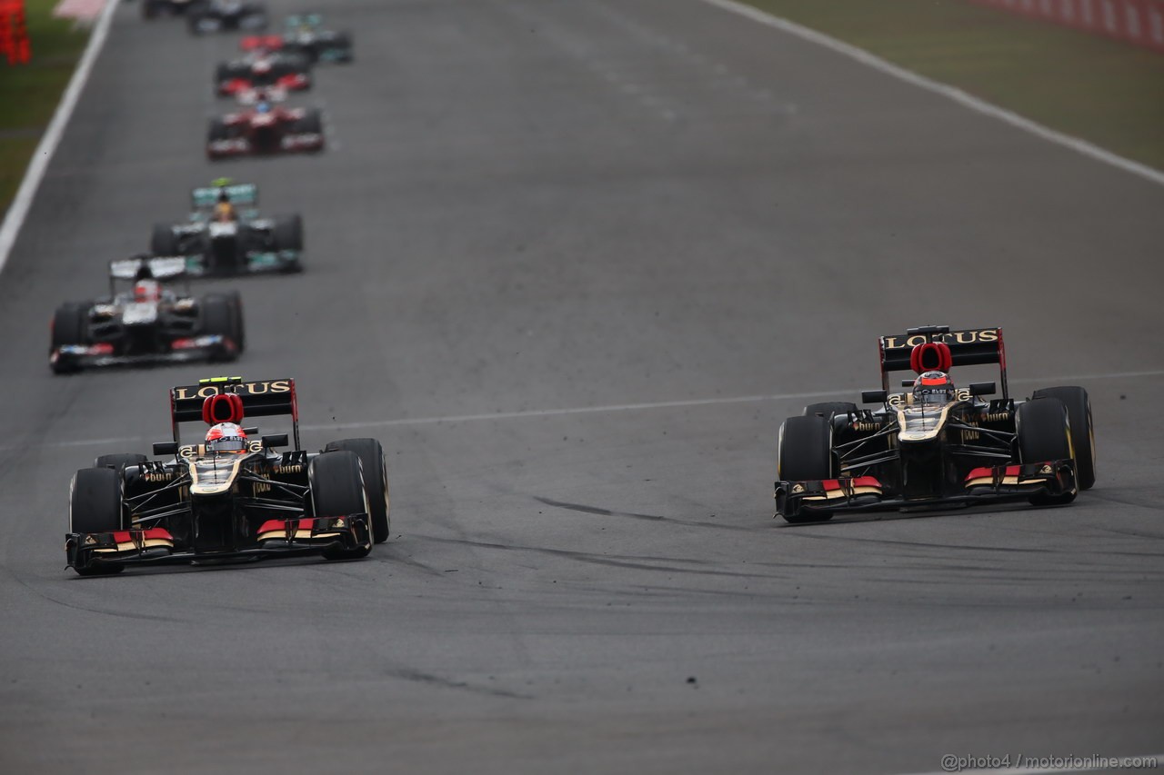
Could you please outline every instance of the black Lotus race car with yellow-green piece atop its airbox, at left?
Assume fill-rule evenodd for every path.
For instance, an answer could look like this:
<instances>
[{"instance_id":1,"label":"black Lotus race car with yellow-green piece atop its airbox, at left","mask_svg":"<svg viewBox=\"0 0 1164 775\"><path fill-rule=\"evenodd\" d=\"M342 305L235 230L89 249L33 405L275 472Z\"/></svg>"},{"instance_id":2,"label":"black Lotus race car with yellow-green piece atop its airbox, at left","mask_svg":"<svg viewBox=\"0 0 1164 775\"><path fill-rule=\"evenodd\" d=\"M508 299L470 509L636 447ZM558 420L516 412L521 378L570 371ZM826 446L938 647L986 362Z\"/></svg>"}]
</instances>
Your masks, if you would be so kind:
<instances>
[{"instance_id":1,"label":"black Lotus race car with yellow-green piece atop its airbox, at left","mask_svg":"<svg viewBox=\"0 0 1164 775\"><path fill-rule=\"evenodd\" d=\"M346 439L305 452L293 379L203 379L173 388L170 412L173 441L154 445L162 460L101 455L73 476L65 553L78 574L311 554L354 560L388 540L379 442ZM291 418L288 452L277 452L289 446L286 433L255 438L254 427L229 452L179 438L185 422L276 415Z\"/></svg>"}]
</instances>

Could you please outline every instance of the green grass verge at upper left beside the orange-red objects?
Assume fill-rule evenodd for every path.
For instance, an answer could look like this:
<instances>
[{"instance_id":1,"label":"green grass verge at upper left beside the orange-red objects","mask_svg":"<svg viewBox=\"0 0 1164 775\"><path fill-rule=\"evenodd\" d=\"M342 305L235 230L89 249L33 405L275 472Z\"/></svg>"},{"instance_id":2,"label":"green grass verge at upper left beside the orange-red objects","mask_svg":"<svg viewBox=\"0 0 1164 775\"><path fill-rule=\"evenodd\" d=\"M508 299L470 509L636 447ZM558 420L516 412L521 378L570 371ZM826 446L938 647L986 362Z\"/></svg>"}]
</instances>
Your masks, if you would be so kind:
<instances>
[{"instance_id":1,"label":"green grass verge at upper left beside the orange-red objects","mask_svg":"<svg viewBox=\"0 0 1164 775\"><path fill-rule=\"evenodd\" d=\"M0 213L8 209L88 42L88 30L52 16L57 2L24 0L33 58L15 66L0 61Z\"/></svg>"}]
</instances>

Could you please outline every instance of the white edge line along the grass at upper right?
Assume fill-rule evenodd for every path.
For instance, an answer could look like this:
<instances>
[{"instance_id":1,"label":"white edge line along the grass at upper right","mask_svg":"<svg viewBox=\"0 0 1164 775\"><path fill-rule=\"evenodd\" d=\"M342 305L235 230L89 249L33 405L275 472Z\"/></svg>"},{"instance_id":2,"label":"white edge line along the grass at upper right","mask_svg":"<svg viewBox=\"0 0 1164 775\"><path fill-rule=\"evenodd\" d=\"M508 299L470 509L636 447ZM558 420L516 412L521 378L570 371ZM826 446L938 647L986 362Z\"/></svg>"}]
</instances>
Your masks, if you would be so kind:
<instances>
[{"instance_id":1,"label":"white edge line along the grass at upper right","mask_svg":"<svg viewBox=\"0 0 1164 775\"><path fill-rule=\"evenodd\" d=\"M1094 145L1086 140L1080 140L1079 137L1066 135L1056 129L1051 129L1050 127L1044 127L1043 125L1031 121L1030 119L1024 119L1017 113L1012 113L1006 108L1001 108L996 105L987 102L986 100L973 97L960 88L956 88L949 84L943 84L942 81L937 81L931 78L927 78L925 76L920 76L910 70L906 70L904 67L882 59L879 56L870 54L865 49L859 49L850 43L830 37L823 33L809 29L808 27L802 27L801 24L787 19L774 16L773 14L760 10L753 6L737 2L736 0L700 1L739 16L744 16L754 22L759 22L760 24L788 33L789 35L795 35L796 37L816 43L817 45L823 45L824 48L836 51L837 54L842 54L850 59L856 59L868 67L879 70L908 84L934 92L935 94L941 94L972 111L1009 123L1013 127L1029 131L1030 134L1042 137L1043 140L1063 145L1064 148L1070 148L1071 150L1083 154L1084 156L1103 162L1105 164L1110 164L1112 166L1124 170L1126 172L1131 172L1133 175L1140 176L1145 180L1164 185L1164 171L1162 170L1148 166L1147 164L1141 164L1140 162L1134 162L1130 158L1124 158L1123 156L1113 154L1109 150L1105 150L1099 145Z\"/></svg>"}]
</instances>

